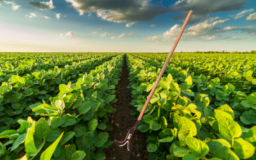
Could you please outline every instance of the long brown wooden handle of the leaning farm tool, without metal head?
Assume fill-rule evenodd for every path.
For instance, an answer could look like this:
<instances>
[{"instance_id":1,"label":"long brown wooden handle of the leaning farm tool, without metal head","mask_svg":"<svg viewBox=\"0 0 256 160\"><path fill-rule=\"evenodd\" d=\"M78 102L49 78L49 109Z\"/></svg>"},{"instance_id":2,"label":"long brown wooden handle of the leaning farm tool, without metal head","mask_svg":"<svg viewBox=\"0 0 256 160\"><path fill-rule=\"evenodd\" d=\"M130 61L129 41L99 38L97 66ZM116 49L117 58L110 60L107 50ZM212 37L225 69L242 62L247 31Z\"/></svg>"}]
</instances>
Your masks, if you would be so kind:
<instances>
[{"instance_id":1,"label":"long brown wooden handle of the leaning farm tool, without metal head","mask_svg":"<svg viewBox=\"0 0 256 160\"><path fill-rule=\"evenodd\" d=\"M187 24L188 24L188 20L190 19L192 13L193 13L193 11L189 11L188 16L187 16L186 20L184 21L184 24L183 24L182 28L180 29L180 33L179 33L179 35L177 36L177 38L176 38L176 40L175 40L175 42L174 42L174 44L173 44L173 46L172 46L172 49L171 49L171 51L170 51L170 53L169 53L169 55L168 55L168 57L167 57L167 59L166 59L166 61L165 61L165 63L164 63L164 66L163 66L163 68L162 68L162 70L161 70L159 76L158 76L157 79L156 79L156 83L154 84L154 86L153 86L153 88L152 88L150 94L148 95L148 99L147 99L147 101L145 102L145 105L143 106L143 109L141 110L141 113L140 113L140 116L139 116L138 120L141 120L142 116L144 115L144 112L145 112L145 110L147 109L148 103L150 102L150 99L152 98L152 95L154 94L154 92L155 92L155 90L156 90L156 88L157 88L157 85L158 85L158 83L159 83L161 77L162 77L163 74L164 74L165 68L167 67L167 65L168 65L168 63L169 63L169 61L170 61L170 59L172 58L172 54L173 54L173 52L174 52L174 50L175 50L177 44L179 43L180 37L181 37L181 35L182 35L184 29L186 28L186 26L187 26Z\"/></svg>"}]
</instances>

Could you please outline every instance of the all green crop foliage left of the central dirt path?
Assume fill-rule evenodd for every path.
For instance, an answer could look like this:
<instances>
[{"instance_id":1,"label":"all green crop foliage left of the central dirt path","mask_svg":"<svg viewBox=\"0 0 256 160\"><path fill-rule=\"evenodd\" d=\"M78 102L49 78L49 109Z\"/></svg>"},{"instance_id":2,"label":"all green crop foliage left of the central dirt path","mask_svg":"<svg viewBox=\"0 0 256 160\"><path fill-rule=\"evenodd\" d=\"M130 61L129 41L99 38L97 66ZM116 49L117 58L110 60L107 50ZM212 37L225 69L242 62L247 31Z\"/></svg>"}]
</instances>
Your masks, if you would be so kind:
<instances>
[{"instance_id":1,"label":"all green crop foliage left of the central dirt path","mask_svg":"<svg viewBox=\"0 0 256 160\"><path fill-rule=\"evenodd\" d=\"M35 54L33 63L20 56L20 64L7 58L9 68L0 72L0 159L106 159L102 150L113 141L102 130L112 128L106 123L124 54L74 55ZM21 72L21 64L30 68Z\"/></svg>"}]
</instances>

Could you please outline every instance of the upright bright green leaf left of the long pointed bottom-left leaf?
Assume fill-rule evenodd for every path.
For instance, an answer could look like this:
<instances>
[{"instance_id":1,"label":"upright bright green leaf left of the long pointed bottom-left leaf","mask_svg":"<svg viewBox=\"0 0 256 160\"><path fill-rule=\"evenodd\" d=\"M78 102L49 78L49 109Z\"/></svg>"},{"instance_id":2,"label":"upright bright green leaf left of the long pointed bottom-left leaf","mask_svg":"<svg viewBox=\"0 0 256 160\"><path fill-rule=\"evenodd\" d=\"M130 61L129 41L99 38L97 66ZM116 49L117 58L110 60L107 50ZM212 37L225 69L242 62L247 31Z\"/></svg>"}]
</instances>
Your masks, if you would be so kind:
<instances>
[{"instance_id":1,"label":"upright bright green leaf left of the long pointed bottom-left leaf","mask_svg":"<svg viewBox=\"0 0 256 160\"><path fill-rule=\"evenodd\" d=\"M34 136L32 129L28 129L28 133L25 140L25 150L29 154L35 154L37 152L35 142L34 142Z\"/></svg>"}]
</instances>

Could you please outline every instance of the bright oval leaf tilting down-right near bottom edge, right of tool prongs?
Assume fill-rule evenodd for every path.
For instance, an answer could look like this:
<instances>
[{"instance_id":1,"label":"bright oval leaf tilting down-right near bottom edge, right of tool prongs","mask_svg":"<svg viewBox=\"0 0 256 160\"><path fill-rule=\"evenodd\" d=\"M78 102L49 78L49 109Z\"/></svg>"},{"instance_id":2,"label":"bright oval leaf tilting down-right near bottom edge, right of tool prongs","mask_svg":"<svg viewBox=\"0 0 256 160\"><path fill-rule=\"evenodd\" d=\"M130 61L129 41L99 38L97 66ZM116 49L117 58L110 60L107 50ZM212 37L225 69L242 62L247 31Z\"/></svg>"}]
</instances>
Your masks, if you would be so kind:
<instances>
[{"instance_id":1,"label":"bright oval leaf tilting down-right near bottom edge, right of tool prongs","mask_svg":"<svg viewBox=\"0 0 256 160\"><path fill-rule=\"evenodd\" d=\"M190 152L196 157L204 157L209 152L209 147L206 143L193 137L187 138L187 145Z\"/></svg>"}]
</instances>

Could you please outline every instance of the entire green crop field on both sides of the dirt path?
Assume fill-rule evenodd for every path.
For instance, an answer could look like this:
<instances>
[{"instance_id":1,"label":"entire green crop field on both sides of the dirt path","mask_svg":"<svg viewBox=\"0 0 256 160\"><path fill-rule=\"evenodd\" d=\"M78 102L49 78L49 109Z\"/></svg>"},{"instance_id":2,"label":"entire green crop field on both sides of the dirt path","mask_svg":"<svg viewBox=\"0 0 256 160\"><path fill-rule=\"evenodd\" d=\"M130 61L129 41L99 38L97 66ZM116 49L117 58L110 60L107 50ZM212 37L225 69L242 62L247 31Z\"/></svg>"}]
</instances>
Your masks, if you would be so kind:
<instances>
[{"instance_id":1,"label":"entire green crop field on both sides of the dirt path","mask_svg":"<svg viewBox=\"0 0 256 160\"><path fill-rule=\"evenodd\" d=\"M256 52L194 53L173 54L145 111L138 130L148 156L256 159ZM0 55L0 159L92 160L113 143L108 114L123 63L136 118L168 56Z\"/></svg>"}]
</instances>

